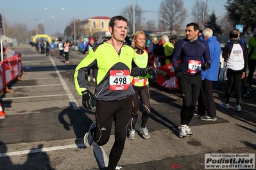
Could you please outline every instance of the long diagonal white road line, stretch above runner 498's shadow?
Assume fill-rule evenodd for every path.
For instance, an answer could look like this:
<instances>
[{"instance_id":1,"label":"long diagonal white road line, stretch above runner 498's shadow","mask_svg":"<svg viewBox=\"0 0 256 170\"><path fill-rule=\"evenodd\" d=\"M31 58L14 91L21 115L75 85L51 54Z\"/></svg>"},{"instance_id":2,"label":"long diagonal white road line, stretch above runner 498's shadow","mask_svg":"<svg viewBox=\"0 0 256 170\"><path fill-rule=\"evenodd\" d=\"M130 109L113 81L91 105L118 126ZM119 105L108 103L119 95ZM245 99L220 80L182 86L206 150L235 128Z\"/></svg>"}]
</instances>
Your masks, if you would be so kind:
<instances>
[{"instance_id":1,"label":"long diagonal white road line, stretch above runner 498's shadow","mask_svg":"<svg viewBox=\"0 0 256 170\"><path fill-rule=\"evenodd\" d=\"M58 75L60 82L62 82L62 86L65 89L65 92L67 93L67 96L69 97L69 101L71 106L73 107L74 110L80 110L80 107L78 107L78 103L76 103L76 100L74 99L74 96L72 95L71 91L69 90L69 88L67 87L67 84L65 83L64 79L62 78L62 75L60 75L60 71L58 70L58 68L55 65L55 62L53 61L53 58L51 58L50 56L48 56L49 59L51 59L51 63L53 64L56 74Z\"/></svg>"}]
</instances>

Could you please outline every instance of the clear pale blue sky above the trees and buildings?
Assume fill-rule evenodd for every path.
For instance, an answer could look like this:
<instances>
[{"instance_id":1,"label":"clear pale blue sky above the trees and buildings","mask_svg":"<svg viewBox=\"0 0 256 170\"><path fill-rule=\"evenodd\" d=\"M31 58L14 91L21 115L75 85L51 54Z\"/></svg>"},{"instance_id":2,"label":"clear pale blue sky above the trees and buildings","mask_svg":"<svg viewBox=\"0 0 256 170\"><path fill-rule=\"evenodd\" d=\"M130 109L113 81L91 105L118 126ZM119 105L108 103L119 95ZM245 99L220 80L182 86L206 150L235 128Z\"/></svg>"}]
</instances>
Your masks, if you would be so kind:
<instances>
[{"instance_id":1,"label":"clear pale blue sky above the trees and buildings","mask_svg":"<svg viewBox=\"0 0 256 170\"><path fill-rule=\"evenodd\" d=\"M135 0L142 10L148 11L143 14L145 23L147 20L158 19L156 12L161 2L162 0ZM190 15L196 0L183 0L183 2ZM217 17L223 16L226 13L223 6L225 3L225 0L208 0L210 13L214 10ZM55 29L64 33L65 26L69 25L73 18L82 20L96 16L113 17L120 15L121 10L130 4L133 4L133 0L1 0L0 8L3 9L1 13L8 24L26 23L28 29L35 29L43 20L46 33L51 35L55 33ZM184 24L193 21L196 20L187 17Z\"/></svg>"}]
</instances>

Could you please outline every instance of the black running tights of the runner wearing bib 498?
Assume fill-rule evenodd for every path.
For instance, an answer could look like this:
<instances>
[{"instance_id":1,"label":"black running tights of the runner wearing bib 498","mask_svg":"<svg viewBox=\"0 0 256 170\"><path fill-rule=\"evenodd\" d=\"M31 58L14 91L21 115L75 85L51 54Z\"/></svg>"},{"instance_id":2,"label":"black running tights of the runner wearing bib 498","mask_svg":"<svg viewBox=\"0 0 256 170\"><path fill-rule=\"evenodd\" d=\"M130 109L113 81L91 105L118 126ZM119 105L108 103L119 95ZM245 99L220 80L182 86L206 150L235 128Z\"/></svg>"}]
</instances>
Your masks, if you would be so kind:
<instances>
[{"instance_id":1,"label":"black running tights of the runner wearing bib 498","mask_svg":"<svg viewBox=\"0 0 256 170\"><path fill-rule=\"evenodd\" d=\"M131 118L132 96L115 102L97 102L96 132L93 132L93 136L99 146L108 142L113 120L115 121L115 142L110 151L108 170L115 169L121 158Z\"/></svg>"}]
</instances>

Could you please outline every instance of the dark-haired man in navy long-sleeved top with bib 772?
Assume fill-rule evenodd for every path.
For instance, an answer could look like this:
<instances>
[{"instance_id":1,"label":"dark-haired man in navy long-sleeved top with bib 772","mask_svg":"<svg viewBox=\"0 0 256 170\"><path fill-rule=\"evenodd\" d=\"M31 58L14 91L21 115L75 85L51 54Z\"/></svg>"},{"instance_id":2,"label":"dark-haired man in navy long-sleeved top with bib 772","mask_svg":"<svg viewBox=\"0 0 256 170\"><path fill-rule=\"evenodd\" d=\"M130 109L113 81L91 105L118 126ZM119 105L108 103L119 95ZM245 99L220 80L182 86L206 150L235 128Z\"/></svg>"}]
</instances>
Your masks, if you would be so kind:
<instances>
[{"instance_id":1,"label":"dark-haired man in navy long-sleeved top with bib 772","mask_svg":"<svg viewBox=\"0 0 256 170\"><path fill-rule=\"evenodd\" d=\"M196 102L201 88L201 69L206 71L210 68L210 51L207 42L198 38L198 24L191 22L185 29L186 38L180 40L173 52L173 67L175 77L178 79L182 93L182 109L180 112L180 137L192 135L189 123L194 116ZM201 59L205 64L201 65ZM178 66L178 58L181 59Z\"/></svg>"}]
</instances>

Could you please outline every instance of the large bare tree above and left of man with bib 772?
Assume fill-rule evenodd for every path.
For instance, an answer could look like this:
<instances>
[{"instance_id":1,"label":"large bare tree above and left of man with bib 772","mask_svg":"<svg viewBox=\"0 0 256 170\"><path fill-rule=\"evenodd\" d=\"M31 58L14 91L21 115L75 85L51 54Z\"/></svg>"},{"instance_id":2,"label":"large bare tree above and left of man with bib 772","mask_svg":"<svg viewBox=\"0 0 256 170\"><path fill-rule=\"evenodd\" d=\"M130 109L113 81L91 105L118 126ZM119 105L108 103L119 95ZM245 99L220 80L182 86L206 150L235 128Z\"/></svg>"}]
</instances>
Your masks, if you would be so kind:
<instances>
[{"instance_id":1,"label":"large bare tree above and left of man with bib 772","mask_svg":"<svg viewBox=\"0 0 256 170\"><path fill-rule=\"evenodd\" d=\"M159 9L159 22L164 24L166 29L178 30L187 16L187 10L183 7L183 1L163 0Z\"/></svg>"}]
</instances>

